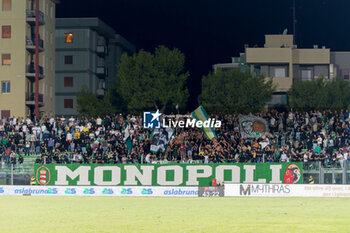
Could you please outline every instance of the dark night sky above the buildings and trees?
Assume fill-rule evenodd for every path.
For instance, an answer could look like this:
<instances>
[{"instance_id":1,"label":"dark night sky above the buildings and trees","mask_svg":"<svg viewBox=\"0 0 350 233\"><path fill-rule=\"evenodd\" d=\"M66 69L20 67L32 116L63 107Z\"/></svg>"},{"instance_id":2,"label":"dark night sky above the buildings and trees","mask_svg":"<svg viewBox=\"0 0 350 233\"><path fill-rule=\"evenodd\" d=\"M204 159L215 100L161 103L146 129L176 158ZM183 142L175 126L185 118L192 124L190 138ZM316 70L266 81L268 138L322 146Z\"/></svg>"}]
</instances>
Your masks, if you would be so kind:
<instances>
[{"instance_id":1,"label":"dark night sky above the buildings and trees","mask_svg":"<svg viewBox=\"0 0 350 233\"><path fill-rule=\"evenodd\" d=\"M190 72L189 107L197 105L201 77L231 61L244 44L265 34L293 33L293 0L60 0L56 16L98 17L137 49L179 48ZM350 50L349 0L296 0L298 47Z\"/></svg>"}]
</instances>

